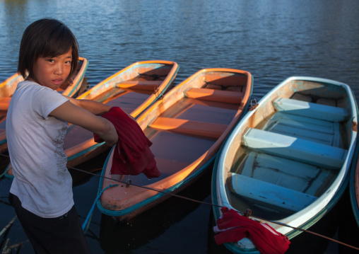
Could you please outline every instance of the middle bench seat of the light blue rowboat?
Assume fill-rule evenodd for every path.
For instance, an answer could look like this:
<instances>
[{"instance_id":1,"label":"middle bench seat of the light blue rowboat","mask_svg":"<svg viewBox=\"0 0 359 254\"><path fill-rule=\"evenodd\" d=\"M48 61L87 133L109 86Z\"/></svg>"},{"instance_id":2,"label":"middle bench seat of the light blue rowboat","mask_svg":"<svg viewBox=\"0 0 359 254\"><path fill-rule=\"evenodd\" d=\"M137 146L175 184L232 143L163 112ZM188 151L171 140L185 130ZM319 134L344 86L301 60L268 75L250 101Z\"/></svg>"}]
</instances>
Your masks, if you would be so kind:
<instances>
[{"instance_id":1,"label":"middle bench seat of the light blue rowboat","mask_svg":"<svg viewBox=\"0 0 359 254\"><path fill-rule=\"evenodd\" d=\"M256 151L330 169L341 168L347 154L345 149L339 147L261 129L249 128L243 139L245 146Z\"/></svg>"}]
</instances>

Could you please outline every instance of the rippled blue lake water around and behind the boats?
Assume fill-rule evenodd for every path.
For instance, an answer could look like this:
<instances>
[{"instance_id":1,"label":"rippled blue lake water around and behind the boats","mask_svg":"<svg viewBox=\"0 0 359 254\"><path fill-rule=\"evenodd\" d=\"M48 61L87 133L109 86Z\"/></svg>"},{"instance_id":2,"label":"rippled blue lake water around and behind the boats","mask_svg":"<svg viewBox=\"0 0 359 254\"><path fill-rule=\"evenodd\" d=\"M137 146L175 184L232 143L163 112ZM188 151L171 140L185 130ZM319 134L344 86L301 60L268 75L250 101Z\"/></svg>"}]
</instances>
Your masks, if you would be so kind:
<instances>
[{"instance_id":1,"label":"rippled blue lake water around and behind the boats","mask_svg":"<svg viewBox=\"0 0 359 254\"><path fill-rule=\"evenodd\" d=\"M39 18L63 21L89 62L90 86L134 62L175 61L175 83L200 69L250 71L260 99L288 76L317 76L347 83L359 98L357 0L0 0L0 81L16 72L23 30ZM6 165L6 158L0 158ZM78 168L102 167L105 155ZM2 168L2 167L1 167ZM99 173L99 171L95 171ZM81 222L95 200L99 179L72 172ZM211 202L208 174L180 195ZM0 229L14 216L11 180L0 179ZM93 253L227 253L213 243L211 207L172 197L128 224L115 225L95 208L86 233ZM310 230L359 245L348 193ZM2 236L1 236L2 237ZM33 253L16 220L7 238ZM288 253L349 253L336 243L302 233ZM15 253L15 252L14 252Z\"/></svg>"}]
</instances>

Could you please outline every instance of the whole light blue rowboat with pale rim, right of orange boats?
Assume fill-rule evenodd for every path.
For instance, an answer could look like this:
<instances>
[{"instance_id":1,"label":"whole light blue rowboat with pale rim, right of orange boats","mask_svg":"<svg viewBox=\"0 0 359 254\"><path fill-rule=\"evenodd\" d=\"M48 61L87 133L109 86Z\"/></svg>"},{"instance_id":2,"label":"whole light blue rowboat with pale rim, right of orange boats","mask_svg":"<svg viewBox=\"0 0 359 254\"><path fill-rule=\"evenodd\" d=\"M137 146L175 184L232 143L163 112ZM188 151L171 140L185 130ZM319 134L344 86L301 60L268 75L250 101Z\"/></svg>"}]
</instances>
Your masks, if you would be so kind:
<instances>
[{"instance_id":1,"label":"whole light blue rowboat with pale rim, right of orange boats","mask_svg":"<svg viewBox=\"0 0 359 254\"><path fill-rule=\"evenodd\" d=\"M334 207L348 184L357 115L346 84L286 79L223 144L213 168L213 204L309 228ZM217 220L220 208L213 207L213 213ZM269 224L288 238L301 232ZM225 246L233 253L259 253L248 238Z\"/></svg>"}]
</instances>

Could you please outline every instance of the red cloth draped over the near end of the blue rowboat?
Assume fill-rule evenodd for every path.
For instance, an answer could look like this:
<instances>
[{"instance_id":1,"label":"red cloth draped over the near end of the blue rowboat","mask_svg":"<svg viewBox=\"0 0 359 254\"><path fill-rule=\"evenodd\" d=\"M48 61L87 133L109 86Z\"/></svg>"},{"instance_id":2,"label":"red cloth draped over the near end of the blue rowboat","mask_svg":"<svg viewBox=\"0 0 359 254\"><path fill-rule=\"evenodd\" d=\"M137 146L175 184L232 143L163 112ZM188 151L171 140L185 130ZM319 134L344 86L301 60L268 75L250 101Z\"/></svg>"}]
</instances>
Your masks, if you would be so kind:
<instances>
[{"instance_id":1,"label":"red cloth draped over the near end of the blue rowboat","mask_svg":"<svg viewBox=\"0 0 359 254\"><path fill-rule=\"evenodd\" d=\"M288 238L268 224L249 219L227 207L220 210L222 216L217 220L217 226L221 232L214 236L217 244L237 242L247 237L261 253L286 253L288 250Z\"/></svg>"}]
</instances>

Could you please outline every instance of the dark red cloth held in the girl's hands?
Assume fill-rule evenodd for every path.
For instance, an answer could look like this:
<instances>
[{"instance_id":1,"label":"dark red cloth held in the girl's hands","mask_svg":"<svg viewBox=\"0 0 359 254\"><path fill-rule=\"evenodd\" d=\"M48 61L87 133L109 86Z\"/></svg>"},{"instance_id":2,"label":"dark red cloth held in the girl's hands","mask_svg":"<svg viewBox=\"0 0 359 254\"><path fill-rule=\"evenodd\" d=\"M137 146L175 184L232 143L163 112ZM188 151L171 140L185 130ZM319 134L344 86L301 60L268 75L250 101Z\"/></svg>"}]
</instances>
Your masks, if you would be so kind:
<instances>
[{"instance_id":1,"label":"dark red cloth held in the girl's hands","mask_svg":"<svg viewBox=\"0 0 359 254\"><path fill-rule=\"evenodd\" d=\"M156 166L155 156L150 150L152 142L145 136L141 127L121 108L113 107L102 117L114 125L119 141L114 146L111 174L139 175L144 173L148 178L158 178L160 171ZM103 142L93 134L95 142Z\"/></svg>"}]
</instances>

